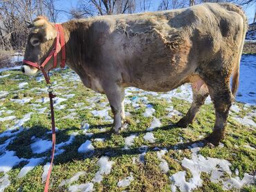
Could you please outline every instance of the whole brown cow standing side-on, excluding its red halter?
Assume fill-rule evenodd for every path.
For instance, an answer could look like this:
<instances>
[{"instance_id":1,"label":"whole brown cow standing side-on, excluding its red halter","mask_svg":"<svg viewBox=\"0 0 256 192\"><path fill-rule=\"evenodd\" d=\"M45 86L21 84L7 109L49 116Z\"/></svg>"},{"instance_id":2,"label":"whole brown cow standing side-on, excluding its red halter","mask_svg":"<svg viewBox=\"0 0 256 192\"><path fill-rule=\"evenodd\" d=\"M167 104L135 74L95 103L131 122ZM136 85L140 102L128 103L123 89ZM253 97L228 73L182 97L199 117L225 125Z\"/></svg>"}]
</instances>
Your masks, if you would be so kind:
<instances>
[{"instance_id":1,"label":"whole brown cow standing side-on, excluding its red halter","mask_svg":"<svg viewBox=\"0 0 256 192\"><path fill-rule=\"evenodd\" d=\"M208 141L223 138L228 111L236 93L239 61L247 21L230 3L204 3L190 8L113 15L62 23L66 64L83 84L105 93L118 133L125 118L125 87L169 91L192 83L193 102L178 125L188 126L210 94L216 120ZM24 59L40 64L53 48L54 24L33 21ZM60 61L60 53L58 55ZM46 70L53 66L53 61ZM37 68L22 66L27 75ZM230 77L232 77L232 92Z\"/></svg>"}]
</instances>

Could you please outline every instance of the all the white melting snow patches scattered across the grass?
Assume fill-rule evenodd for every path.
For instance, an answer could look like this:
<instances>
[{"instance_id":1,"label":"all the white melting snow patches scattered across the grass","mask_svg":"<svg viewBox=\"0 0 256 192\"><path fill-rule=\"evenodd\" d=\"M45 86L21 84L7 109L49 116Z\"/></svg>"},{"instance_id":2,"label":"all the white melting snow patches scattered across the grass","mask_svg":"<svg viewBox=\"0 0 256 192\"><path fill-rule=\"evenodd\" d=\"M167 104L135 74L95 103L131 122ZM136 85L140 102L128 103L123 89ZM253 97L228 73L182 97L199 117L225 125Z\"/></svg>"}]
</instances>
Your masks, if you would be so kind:
<instances>
[{"instance_id":1,"label":"all the white melting snow patches scattered across the grass","mask_svg":"<svg viewBox=\"0 0 256 192\"><path fill-rule=\"evenodd\" d=\"M0 71L1 72L1 71ZM245 103L245 107L248 108L250 105L256 105L256 56L255 55L243 55L241 59L241 66L240 66L240 84L239 84L239 90L237 93L237 101ZM3 75L4 77L8 77L8 75ZM0 76L0 78L4 78L3 76ZM41 81L41 77L38 78L39 81ZM72 81L78 81L79 78L74 75L72 78L68 78ZM77 80L78 79L78 80ZM26 82L20 83L18 85L20 89L27 88L28 84ZM56 85L57 88L57 85ZM60 88L60 86L58 87ZM64 87L63 87L64 88ZM36 88L35 88L36 89ZM45 89L37 88L39 94L42 94L46 92ZM133 91L138 91L136 93L136 96L133 95ZM7 97L8 92L6 91L0 91L0 99L5 99ZM154 129L157 127L162 126L164 122L161 118L156 118L156 109L154 109L154 106L149 104L149 99L147 98L147 95L153 95L154 97L158 98L165 98L168 102L171 102L172 97L183 99L186 102L192 102L192 91L191 86L189 84L185 84L179 88L179 90L172 90L167 93L153 93L153 92L147 92L142 91L137 88L127 88L126 89L126 96L133 95L133 97L126 97L125 104L131 104L131 106L134 106L134 110L137 110L141 108L141 106L145 106L145 112L143 113L143 117L145 118L152 118L149 126L146 128L146 132L142 139L145 142L145 144L154 144L157 142L157 134L154 134ZM66 94L62 95L62 97L55 97L55 106L59 107L59 110L66 107L66 105L60 105L62 102L68 101L68 99L72 99L75 96L75 94ZM102 95L98 95L95 97L90 97L86 101L91 103L91 106L84 106L84 103L76 103L73 106L75 108L87 108L90 109L90 113L93 117L99 117L102 120L105 120L105 122L112 121L111 117L109 116L109 104L107 102L100 102L100 99L102 99ZM18 104L26 104L29 105L28 102L30 102L33 98L32 97L26 97L24 99L10 99L10 102L18 103ZM44 108L40 108L42 105L48 102L48 99L38 99L36 100L35 104L30 104L31 107L37 108L39 113L44 113ZM95 108L95 104L97 103L100 108ZM210 103L210 98L207 99L206 104ZM1 107L1 106L0 106ZM44 109L44 110L42 110ZM182 115L181 112L174 109L173 106L167 106L165 110L168 112L167 117L172 117L174 115ZM69 112L74 111L74 108L68 108ZM231 108L232 113L239 113L241 111L241 108L237 105L233 105ZM39 137L31 137L30 139L30 149L33 153L32 158L26 159L22 157L18 157L16 155L15 151L8 151L7 146L11 144L21 131L24 131L26 128L24 128L24 123L28 122L30 120L30 116L33 115L33 113L27 113L26 115L23 115L21 119L18 119L15 115L12 115L13 111L7 110L7 108L0 108L0 115L1 113L7 113L9 116L7 117L0 117L0 123L5 121L14 121L14 126L7 126L7 131L0 134L1 137L8 137L6 141L4 141L2 144L0 144L0 172L3 172L4 175L0 177L0 191L3 191L8 185L10 185L10 180L8 176L8 171L10 171L14 166L19 164L20 162L27 162L19 171L18 177L24 177L26 174L31 171L35 166L42 164L44 160L46 160L46 156L44 157L37 157L37 155L46 153L46 151L51 150L51 140L48 140L46 138L39 138ZM127 112L129 115L129 112ZM255 111L251 112L250 114L247 114L245 117L232 117L237 122L244 124L246 126L256 127L255 122L253 121L252 117L255 116ZM81 125L81 130L83 130L84 135L91 136L93 133L87 133L89 131L90 125L86 122L83 122ZM105 131L104 128L100 129L100 131ZM49 132L51 133L51 132ZM90 135L91 134L91 135ZM65 142L61 142L56 145L56 155L60 155L61 153L64 153L65 149L62 148L64 146L68 146L73 143L75 140L77 133L71 133L68 137L68 139ZM131 134L127 135L127 137L124 138L125 146L123 150L129 150L136 140L138 139L139 135ZM80 146L77 148L78 153L82 154L93 154L97 150L93 144L95 142L105 142L105 138L100 136L99 138L88 138L88 140L84 140L84 143L80 144ZM181 138L181 142L183 142ZM223 147L223 144L220 145ZM244 145L245 148L249 148L250 150L255 150L253 146L250 145ZM164 155L167 153L166 148L155 148L157 152L157 157L160 163L157 165L161 169L163 173L167 173L170 168L168 166L167 160L165 160ZM140 154L138 155L138 162L144 163L145 162L145 154L147 153L148 146L141 146L138 151ZM175 149L176 150L176 149ZM211 158L211 157L203 157L203 155L200 155L198 152L201 150L201 144L194 144L190 146L190 150L192 152L192 158L191 160L188 158L183 158L181 160L181 165L185 167L186 169L190 170L192 173L192 177L189 180L186 180L186 171L179 171L177 173L174 173L170 175L170 181L172 182L172 191L176 191L176 188L179 187L181 191L192 191L193 189L196 189L197 187L202 185L201 180L201 173L208 173L210 174L210 180L212 182L221 182L223 184L223 189L231 189L232 187L235 187L237 189L241 188L244 184L252 184L253 183L253 176L248 175L248 173L244 174L243 178L238 177L238 173L236 171L236 175L232 175L232 172L230 171L231 163L228 160L219 160L217 158ZM179 153L179 149L176 150L177 153ZM112 166L115 164L115 162L107 156L102 156L99 158L97 165L99 166L98 171L93 175L93 179L90 180L90 182L84 183L84 184L72 184L72 182L75 182L79 179L80 176L85 175L85 171L79 171L75 173L72 177L69 177L66 180L62 180L60 186L68 185L69 191L93 191L93 184L102 182L104 177L107 177L111 173ZM218 166L217 166L218 165ZM44 163L44 173L42 173L42 182L46 179L46 174L49 168L48 163ZM230 177L228 180L223 180L223 171L225 171L228 176ZM131 182L133 182L134 175L132 172L125 175L125 177L120 178L116 185L118 187L127 187Z\"/></svg>"}]
</instances>

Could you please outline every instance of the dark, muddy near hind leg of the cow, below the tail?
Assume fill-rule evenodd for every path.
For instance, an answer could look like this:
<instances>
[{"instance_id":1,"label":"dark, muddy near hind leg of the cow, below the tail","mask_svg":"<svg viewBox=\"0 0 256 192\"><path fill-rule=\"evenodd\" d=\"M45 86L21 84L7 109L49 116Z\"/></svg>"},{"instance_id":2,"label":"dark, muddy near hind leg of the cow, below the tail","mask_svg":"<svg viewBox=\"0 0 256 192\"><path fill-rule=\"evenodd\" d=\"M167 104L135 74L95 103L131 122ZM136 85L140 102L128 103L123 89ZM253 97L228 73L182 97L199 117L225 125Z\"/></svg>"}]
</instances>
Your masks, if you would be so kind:
<instances>
[{"instance_id":1,"label":"dark, muddy near hind leg of the cow, below the tail","mask_svg":"<svg viewBox=\"0 0 256 192\"><path fill-rule=\"evenodd\" d=\"M214 146L217 146L224 137L225 126L227 123L228 112L234 97L230 90L229 77L218 80L210 84L209 92L215 108L215 124L212 133L205 138Z\"/></svg>"}]
</instances>

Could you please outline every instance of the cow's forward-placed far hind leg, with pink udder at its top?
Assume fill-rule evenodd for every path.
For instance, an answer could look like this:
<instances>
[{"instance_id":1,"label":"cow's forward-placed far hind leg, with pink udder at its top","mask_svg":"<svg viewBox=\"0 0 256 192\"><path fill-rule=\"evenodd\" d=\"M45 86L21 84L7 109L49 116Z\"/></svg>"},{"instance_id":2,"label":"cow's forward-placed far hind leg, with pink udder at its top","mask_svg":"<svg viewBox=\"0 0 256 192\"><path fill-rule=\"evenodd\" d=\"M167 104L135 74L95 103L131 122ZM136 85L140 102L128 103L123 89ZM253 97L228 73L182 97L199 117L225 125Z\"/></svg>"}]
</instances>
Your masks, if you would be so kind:
<instances>
[{"instance_id":1,"label":"cow's forward-placed far hind leg, with pink udder at its top","mask_svg":"<svg viewBox=\"0 0 256 192\"><path fill-rule=\"evenodd\" d=\"M199 108L204 104L206 97L208 97L208 87L199 79L192 83L192 92L193 92L193 102L188 110L188 113L179 120L177 123L180 127L187 127L188 124L191 124L196 116L196 113L199 111Z\"/></svg>"}]
</instances>

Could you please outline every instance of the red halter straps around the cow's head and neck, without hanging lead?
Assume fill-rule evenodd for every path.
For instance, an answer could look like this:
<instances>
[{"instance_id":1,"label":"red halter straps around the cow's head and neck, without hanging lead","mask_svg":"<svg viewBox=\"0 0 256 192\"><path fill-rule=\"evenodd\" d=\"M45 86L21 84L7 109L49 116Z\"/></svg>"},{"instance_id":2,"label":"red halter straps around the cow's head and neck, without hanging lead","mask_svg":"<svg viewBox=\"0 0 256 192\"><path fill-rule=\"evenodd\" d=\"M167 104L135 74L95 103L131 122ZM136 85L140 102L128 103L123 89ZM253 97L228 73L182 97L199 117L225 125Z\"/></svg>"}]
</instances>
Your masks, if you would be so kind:
<instances>
[{"instance_id":1,"label":"red halter straps around the cow's head and neck, without hanging lead","mask_svg":"<svg viewBox=\"0 0 256 192\"><path fill-rule=\"evenodd\" d=\"M46 79L46 84L50 84L50 78L48 77L46 71L44 70L44 66L46 66L46 64L51 59L51 57L53 57L53 67L52 68L57 67L57 53L60 52L60 50L62 51L62 60L61 60L61 64L60 64L60 66L62 68L65 67L65 61L66 61L65 39L64 39L64 32L63 32L62 24L55 24L55 28L57 30L57 37L56 37L56 41L54 44L54 48L50 52L48 57L46 57L44 62L41 65L39 65L32 61L28 61L25 59L23 60L24 64L28 64L28 65L38 68L39 70L42 71L44 78Z\"/></svg>"}]
</instances>

